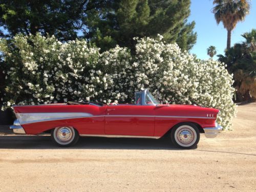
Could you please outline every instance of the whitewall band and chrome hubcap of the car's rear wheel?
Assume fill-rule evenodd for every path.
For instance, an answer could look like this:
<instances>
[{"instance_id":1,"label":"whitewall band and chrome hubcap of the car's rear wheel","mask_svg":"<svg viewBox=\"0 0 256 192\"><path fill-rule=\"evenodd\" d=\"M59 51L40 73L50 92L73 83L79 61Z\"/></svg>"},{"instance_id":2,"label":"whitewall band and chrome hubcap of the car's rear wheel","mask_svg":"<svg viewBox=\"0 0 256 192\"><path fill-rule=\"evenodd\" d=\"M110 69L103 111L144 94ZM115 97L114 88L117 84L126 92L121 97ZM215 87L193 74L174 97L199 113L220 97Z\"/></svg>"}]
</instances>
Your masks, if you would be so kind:
<instances>
[{"instance_id":1,"label":"whitewall band and chrome hubcap of the car's rear wheel","mask_svg":"<svg viewBox=\"0 0 256 192\"><path fill-rule=\"evenodd\" d=\"M75 138L75 130L70 126L56 127L53 133L54 139L61 145L70 144Z\"/></svg>"}]
</instances>

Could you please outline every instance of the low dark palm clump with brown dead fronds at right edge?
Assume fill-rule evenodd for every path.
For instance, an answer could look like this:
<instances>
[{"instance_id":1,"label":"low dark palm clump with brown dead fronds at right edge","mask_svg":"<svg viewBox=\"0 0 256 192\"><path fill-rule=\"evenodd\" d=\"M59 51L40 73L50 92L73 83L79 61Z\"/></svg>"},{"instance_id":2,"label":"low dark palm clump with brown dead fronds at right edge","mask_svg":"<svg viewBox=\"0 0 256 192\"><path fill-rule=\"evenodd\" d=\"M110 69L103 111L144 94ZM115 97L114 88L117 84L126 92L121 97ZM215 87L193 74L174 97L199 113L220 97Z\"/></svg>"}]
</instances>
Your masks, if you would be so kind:
<instances>
[{"instance_id":1,"label":"low dark palm clump with brown dead fronds at right edge","mask_svg":"<svg viewBox=\"0 0 256 192\"><path fill-rule=\"evenodd\" d=\"M256 30L242 36L244 42L226 50L225 55L218 55L218 60L226 63L227 70L233 74L238 101L256 99Z\"/></svg>"}]
</instances>

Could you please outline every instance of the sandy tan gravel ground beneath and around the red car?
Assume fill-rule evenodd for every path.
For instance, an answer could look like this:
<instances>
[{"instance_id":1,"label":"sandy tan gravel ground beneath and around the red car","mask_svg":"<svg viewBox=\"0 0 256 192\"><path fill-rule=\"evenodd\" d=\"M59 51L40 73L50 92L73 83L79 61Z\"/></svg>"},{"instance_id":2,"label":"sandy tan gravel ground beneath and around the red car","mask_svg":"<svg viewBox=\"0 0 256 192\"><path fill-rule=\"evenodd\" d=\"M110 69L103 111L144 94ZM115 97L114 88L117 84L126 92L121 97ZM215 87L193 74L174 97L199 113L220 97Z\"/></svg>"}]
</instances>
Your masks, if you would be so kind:
<instances>
[{"instance_id":1,"label":"sandy tan gravel ground beneath and around the red car","mask_svg":"<svg viewBox=\"0 0 256 192\"><path fill-rule=\"evenodd\" d=\"M0 191L256 191L256 103L238 106L234 131L178 150L166 139L49 136L0 128Z\"/></svg>"}]
</instances>

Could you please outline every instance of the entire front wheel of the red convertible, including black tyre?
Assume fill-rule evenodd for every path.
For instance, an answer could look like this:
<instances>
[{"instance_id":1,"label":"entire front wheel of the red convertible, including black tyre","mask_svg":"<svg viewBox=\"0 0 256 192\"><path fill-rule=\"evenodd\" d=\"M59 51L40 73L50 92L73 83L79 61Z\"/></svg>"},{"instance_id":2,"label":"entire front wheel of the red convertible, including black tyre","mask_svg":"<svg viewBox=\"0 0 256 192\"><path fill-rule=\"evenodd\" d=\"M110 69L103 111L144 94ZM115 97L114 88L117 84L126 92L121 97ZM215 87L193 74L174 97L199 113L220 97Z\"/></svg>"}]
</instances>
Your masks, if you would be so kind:
<instances>
[{"instance_id":1,"label":"entire front wheel of the red convertible, including black tyre","mask_svg":"<svg viewBox=\"0 0 256 192\"><path fill-rule=\"evenodd\" d=\"M180 123L173 127L170 138L179 148L194 148L200 139L200 132L194 123Z\"/></svg>"}]
</instances>

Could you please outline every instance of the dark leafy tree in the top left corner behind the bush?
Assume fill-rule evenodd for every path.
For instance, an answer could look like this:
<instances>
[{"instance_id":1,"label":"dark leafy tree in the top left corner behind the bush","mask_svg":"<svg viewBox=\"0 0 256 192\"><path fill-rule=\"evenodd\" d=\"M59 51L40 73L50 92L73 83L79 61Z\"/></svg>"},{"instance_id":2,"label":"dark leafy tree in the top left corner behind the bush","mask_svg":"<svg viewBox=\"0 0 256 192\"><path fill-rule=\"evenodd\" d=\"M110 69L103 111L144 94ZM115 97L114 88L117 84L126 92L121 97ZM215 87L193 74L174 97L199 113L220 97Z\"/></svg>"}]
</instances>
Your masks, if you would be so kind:
<instances>
[{"instance_id":1,"label":"dark leafy tree in the top left corner behind the bush","mask_svg":"<svg viewBox=\"0 0 256 192\"><path fill-rule=\"evenodd\" d=\"M83 26L82 18L88 1L84 0L33 0L0 1L0 25L8 31L2 36L17 33L56 35L60 40L77 38Z\"/></svg>"}]
</instances>

